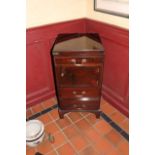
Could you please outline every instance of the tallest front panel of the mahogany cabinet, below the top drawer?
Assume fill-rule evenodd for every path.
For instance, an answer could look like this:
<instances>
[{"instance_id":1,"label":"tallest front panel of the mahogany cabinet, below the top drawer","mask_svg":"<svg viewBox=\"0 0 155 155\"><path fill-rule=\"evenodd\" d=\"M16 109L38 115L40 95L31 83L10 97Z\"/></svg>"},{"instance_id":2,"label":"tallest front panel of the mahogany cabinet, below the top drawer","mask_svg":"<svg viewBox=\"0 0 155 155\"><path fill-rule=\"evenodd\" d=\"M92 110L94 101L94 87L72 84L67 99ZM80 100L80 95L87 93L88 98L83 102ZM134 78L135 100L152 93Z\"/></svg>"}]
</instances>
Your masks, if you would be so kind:
<instances>
[{"instance_id":1,"label":"tallest front panel of the mahogany cabinet, below the top drawer","mask_svg":"<svg viewBox=\"0 0 155 155\"><path fill-rule=\"evenodd\" d=\"M57 66L56 76L60 87L98 87L101 85L101 66Z\"/></svg>"}]
</instances>

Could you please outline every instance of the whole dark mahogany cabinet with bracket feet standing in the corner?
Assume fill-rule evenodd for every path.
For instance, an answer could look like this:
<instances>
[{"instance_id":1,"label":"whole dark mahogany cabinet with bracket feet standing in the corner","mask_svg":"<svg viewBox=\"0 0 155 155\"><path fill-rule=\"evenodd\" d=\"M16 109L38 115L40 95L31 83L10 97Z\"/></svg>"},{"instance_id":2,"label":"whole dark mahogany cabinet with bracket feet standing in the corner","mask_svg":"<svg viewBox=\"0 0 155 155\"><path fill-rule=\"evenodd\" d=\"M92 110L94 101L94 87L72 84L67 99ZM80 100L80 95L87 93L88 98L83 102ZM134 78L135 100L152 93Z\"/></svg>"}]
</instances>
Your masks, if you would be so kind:
<instances>
[{"instance_id":1,"label":"whole dark mahogany cabinet with bracket feet standing in the corner","mask_svg":"<svg viewBox=\"0 0 155 155\"><path fill-rule=\"evenodd\" d=\"M104 48L97 33L59 34L51 48L60 118L68 112L100 117Z\"/></svg>"}]
</instances>

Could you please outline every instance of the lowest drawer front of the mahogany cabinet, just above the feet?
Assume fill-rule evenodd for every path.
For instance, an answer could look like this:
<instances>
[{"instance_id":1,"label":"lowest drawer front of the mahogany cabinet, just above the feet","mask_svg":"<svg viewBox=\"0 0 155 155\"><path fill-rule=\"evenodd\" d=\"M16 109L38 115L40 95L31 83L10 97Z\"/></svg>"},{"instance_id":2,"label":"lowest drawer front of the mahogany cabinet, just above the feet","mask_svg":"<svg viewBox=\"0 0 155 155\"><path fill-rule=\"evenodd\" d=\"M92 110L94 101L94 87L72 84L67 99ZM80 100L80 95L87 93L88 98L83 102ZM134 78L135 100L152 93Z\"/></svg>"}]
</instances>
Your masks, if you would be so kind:
<instances>
[{"instance_id":1,"label":"lowest drawer front of the mahogany cabinet, just above the feet","mask_svg":"<svg viewBox=\"0 0 155 155\"><path fill-rule=\"evenodd\" d=\"M99 100L96 101L80 101L80 100L61 100L60 108L64 110L97 110L100 108Z\"/></svg>"}]
</instances>

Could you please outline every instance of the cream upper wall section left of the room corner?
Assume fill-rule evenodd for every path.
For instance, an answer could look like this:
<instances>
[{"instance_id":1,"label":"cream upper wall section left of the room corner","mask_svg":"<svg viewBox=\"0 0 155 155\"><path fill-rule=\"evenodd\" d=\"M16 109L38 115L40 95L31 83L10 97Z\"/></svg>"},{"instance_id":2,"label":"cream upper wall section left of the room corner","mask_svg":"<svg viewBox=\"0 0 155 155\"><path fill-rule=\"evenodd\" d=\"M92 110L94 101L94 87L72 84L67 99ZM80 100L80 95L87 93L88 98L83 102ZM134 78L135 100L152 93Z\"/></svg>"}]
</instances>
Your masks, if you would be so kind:
<instances>
[{"instance_id":1,"label":"cream upper wall section left of the room corner","mask_svg":"<svg viewBox=\"0 0 155 155\"><path fill-rule=\"evenodd\" d=\"M27 0L26 2L27 28L86 16L86 0Z\"/></svg>"}]
</instances>

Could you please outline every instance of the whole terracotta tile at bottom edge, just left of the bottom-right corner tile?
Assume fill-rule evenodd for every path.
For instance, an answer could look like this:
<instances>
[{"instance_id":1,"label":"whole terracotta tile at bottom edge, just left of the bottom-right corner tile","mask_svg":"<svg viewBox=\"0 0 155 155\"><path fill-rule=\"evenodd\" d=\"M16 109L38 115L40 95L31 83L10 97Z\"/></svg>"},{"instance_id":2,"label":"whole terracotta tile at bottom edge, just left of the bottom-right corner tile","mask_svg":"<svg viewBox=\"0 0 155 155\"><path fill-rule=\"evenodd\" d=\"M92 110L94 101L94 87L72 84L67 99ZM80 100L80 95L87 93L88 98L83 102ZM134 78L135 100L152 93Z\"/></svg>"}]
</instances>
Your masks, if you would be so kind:
<instances>
[{"instance_id":1,"label":"whole terracotta tile at bottom edge, just left of the bottom-right corner tile","mask_svg":"<svg viewBox=\"0 0 155 155\"><path fill-rule=\"evenodd\" d=\"M108 142L108 140L103 139L101 141L98 141L97 143L94 144L94 147L96 148L97 151L99 151L101 154L107 154L112 150L114 147L112 144Z\"/></svg>"}]
</instances>

